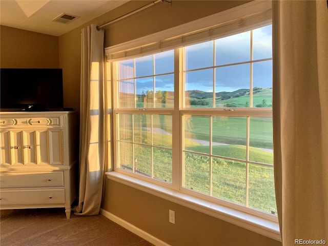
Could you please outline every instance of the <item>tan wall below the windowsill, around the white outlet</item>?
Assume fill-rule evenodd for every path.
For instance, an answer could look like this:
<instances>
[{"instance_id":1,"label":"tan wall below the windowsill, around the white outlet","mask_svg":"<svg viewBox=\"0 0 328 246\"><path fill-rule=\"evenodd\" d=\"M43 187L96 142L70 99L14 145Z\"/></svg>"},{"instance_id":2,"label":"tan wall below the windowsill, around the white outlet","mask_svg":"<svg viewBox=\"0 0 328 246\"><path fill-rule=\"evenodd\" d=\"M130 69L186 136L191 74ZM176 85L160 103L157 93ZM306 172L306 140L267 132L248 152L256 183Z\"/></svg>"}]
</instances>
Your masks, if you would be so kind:
<instances>
[{"instance_id":1,"label":"tan wall below the windowsill, around the white outlet","mask_svg":"<svg viewBox=\"0 0 328 246\"><path fill-rule=\"evenodd\" d=\"M281 246L281 243L107 179L103 208L177 246ZM169 222L175 211L175 224Z\"/></svg>"}]
</instances>

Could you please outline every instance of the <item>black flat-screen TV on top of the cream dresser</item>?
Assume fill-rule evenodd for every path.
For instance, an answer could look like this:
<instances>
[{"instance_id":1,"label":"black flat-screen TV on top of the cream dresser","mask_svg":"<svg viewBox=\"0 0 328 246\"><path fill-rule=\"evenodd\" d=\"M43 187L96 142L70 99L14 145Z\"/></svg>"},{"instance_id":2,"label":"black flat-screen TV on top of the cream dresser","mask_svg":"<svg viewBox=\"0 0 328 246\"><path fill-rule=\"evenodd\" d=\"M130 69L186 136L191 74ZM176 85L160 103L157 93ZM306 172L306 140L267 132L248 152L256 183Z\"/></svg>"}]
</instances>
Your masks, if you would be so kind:
<instances>
[{"instance_id":1,"label":"black flat-screen TV on top of the cream dresser","mask_svg":"<svg viewBox=\"0 0 328 246\"><path fill-rule=\"evenodd\" d=\"M61 69L0 69L2 110L47 111L63 109Z\"/></svg>"}]
</instances>

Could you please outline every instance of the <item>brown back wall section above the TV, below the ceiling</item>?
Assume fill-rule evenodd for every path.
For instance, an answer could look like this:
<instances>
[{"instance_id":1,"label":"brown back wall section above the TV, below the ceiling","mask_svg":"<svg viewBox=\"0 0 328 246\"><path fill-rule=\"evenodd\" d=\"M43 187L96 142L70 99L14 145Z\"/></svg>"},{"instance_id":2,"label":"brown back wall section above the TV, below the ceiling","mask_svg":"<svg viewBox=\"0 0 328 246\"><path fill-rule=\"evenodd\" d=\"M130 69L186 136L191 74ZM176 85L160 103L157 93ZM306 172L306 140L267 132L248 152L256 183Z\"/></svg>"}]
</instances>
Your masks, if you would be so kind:
<instances>
[{"instance_id":1,"label":"brown back wall section above the TV, below the ceiling","mask_svg":"<svg viewBox=\"0 0 328 246\"><path fill-rule=\"evenodd\" d=\"M1 26L2 68L58 68L58 37Z\"/></svg>"}]
</instances>

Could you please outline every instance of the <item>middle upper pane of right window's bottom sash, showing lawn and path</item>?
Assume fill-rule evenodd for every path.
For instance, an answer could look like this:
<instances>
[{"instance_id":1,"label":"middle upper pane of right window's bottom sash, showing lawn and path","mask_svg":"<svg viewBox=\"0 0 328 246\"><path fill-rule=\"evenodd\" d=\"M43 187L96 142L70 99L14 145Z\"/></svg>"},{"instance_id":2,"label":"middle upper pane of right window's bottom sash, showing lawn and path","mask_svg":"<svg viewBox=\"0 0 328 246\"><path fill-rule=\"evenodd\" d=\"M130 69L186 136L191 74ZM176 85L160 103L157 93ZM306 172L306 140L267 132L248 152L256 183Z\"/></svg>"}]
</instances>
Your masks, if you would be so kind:
<instances>
[{"instance_id":1,"label":"middle upper pane of right window's bottom sash, showing lawn and path","mask_svg":"<svg viewBox=\"0 0 328 246\"><path fill-rule=\"evenodd\" d=\"M213 155L245 160L246 122L246 117L213 117Z\"/></svg>"}]
</instances>

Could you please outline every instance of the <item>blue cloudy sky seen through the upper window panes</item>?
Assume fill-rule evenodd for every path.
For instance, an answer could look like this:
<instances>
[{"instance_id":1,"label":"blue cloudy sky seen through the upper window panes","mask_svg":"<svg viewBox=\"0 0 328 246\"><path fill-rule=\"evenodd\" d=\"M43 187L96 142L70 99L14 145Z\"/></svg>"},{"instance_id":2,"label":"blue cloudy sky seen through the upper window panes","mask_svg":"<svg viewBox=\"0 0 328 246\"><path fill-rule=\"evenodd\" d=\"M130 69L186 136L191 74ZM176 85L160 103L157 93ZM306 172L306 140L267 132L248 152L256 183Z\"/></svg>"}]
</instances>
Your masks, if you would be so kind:
<instances>
[{"instance_id":1,"label":"blue cloudy sky seen through the upper window panes","mask_svg":"<svg viewBox=\"0 0 328 246\"><path fill-rule=\"evenodd\" d=\"M272 57L271 25L253 30L253 60ZM250 88L250 64L223 66L213 69L199 68L213 66L213 45L215 45L215 66L241 63L250 60L250 31L186 47L186 90L213 91L215 73L215 92L235 91ZM174 70L174 51L155 55L154 74L172 73ZM133 68L133 60L121 64ZM128 69L129 70L129 69ZM127 71L127 70L126 70ZM125 75L133 76L133 69ZM136 58L136 77L153 74L153 57ZM123 73L121 73L122 77ZM128 76L128 77L130 77ZM272 87L272 60L253 63L253 87ZM155 91L173 91L173 74L155 76ZM153 90L153 77L136 79L136 93Z\"/></svg>"}]
</instances>

